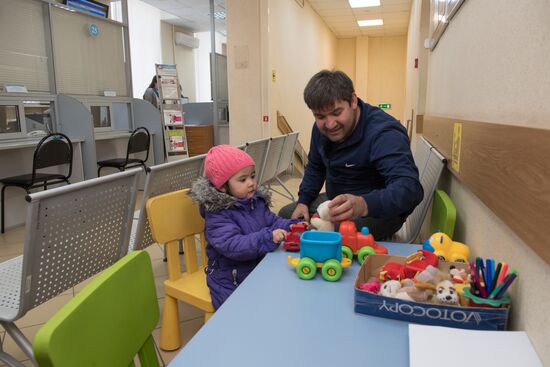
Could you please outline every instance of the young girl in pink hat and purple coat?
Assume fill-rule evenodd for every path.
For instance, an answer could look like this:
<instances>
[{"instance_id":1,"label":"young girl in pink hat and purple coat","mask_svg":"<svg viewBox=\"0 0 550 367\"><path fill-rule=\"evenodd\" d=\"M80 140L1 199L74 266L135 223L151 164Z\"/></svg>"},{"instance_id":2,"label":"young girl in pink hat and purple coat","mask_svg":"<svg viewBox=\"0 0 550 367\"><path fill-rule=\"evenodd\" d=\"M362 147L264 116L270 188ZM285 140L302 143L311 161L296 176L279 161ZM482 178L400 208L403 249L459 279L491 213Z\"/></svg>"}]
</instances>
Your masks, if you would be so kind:
<instances>
[{"instance_id":1,"label":"young girl in pink hat and purple coat","mask_svg":"<svg viewBox=\"0 0 550 367\"><path fill-rule=\"evenodd\" d=\"M200 204L208 243L206 283L215 309L284 240L290 224L269 210L270 195L258 188L254 160L230 145L217 145L204 160L206 177L190 196Z\"/></svg>"}]
</instances>

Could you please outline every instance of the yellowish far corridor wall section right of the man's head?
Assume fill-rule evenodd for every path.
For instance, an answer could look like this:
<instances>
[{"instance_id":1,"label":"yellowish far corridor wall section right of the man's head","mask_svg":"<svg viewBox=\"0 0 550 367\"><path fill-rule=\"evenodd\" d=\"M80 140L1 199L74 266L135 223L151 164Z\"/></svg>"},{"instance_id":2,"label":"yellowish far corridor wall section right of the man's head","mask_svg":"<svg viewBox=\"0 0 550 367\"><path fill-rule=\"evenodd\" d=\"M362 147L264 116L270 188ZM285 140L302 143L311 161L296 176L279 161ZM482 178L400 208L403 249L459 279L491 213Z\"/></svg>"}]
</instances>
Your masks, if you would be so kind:
<instances>
[{"instance_id":1,"label":"yellowish far corridor wall section right of the man's head","mask_svg":"<svg viewBox=\"0 0 550 367\"><path fill-rule=\"evenodd\" d=\"M385 110L402 123L405 104L405 62L407 37L370 37L367 95L359 95L368 103L390 103ZM410 115L410 112L408 112Z\"/></svg>"}]
</instances>

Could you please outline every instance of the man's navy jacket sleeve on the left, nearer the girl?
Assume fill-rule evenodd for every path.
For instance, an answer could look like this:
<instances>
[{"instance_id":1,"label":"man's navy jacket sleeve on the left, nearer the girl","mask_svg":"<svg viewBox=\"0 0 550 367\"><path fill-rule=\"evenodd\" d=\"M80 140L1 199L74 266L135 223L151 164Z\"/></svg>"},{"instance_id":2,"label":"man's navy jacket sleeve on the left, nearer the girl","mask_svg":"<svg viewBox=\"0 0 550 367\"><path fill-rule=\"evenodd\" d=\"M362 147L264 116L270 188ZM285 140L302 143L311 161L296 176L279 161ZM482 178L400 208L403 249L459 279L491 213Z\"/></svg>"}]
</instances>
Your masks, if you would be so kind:
<instances>
[{"instance_id":1,"label":"man's navy jacket sleeve on the left, nearer the girl","mask_svg":"<svg viewBox=\"0 0 550 367\"><path fill-rule=\"evenodd\" d=\"M309 154L307 156L308 163L304 172L304 178L300 184L300 190L298 191L298 202L308 206L319 196L326 178L326 167L317 146L319 137L320 132L314 125L311 132Z\"/></svg>"}]
</instances>

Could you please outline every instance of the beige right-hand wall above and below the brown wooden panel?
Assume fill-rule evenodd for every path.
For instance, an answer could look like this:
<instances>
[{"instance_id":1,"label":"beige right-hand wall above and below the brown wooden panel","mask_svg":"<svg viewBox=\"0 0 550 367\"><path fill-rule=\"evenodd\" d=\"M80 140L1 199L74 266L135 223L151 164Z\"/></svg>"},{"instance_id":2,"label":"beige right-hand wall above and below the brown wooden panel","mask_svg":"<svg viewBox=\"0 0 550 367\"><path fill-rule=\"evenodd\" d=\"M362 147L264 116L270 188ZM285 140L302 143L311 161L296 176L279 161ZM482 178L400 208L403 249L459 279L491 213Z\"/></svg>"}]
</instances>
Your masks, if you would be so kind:
<instances>
[{"instance_id":1,"label":"beige right-hand wall above and below the brown wooden panel","mask_svg":"<svg viewBox=\"0 0 550 367\"><path fill-rule=\"evenodd\" d=\"M465 1L430 53L425 113L549 129L549 18L543 0ZM456 178L445 188L457 206L455 238L519 270L511 327L527 331L550 365L550 266Z\"/></svg>"}]
</instances>

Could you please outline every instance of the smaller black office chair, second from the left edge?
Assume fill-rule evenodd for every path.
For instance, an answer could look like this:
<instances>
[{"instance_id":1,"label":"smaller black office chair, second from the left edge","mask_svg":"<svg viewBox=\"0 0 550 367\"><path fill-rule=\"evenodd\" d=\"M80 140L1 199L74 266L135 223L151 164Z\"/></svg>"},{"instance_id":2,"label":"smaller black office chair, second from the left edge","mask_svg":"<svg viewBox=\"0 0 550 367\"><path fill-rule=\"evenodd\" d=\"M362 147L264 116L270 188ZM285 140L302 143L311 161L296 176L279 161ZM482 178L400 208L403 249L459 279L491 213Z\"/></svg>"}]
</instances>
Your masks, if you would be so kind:
<instances>
[{"instance_id":1,"label":"smaller black office chair, second from the left edge","mask_svg":"<svg viewBox=\"0 0 550 367\"><path fill-rule=\"evenodd\" d=\"M147 166L145 162L149 158L149 145L151 142L151 134L149 130L144 127L138 127L130 135L128 139L128 149L126 150L126 158L113 158L106 159L104 161L97 162L99 166L97 169L97 176L101 176L101 169L103 167L118 168L119 171L124 171L126 168L143 166L145 173L147 173ZM145 152L145 158L130 158L130 154Z\"/></svg>"}]
</instances>

